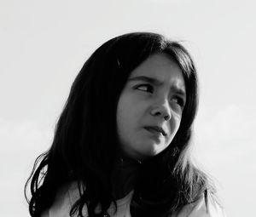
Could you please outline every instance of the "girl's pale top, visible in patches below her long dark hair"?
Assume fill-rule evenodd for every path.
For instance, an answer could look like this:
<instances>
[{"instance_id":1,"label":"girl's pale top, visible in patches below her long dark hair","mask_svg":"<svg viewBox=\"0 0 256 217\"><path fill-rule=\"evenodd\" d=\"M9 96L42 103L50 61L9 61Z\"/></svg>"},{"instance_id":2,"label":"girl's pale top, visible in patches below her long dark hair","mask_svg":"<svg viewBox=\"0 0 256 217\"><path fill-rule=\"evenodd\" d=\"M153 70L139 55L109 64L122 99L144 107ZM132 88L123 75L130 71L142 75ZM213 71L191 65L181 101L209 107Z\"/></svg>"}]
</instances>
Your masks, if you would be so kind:
<instances>
[{"instance_id":1,"label":"girl's pale top, visible in patches below her long dark hair","mask_svg":"<svg viewBox=\"0 0 256 217\"><path fill-rule=\"evenodd\" d=\"M114 213L114 206L112 204L108 208L108 214L111 217L131 217L130 203L132 194L133 191L124 198L117 200L116 213ZM79 188L77 183L64 186L58 191L55 197L55 203L51 208L45 210L41 217L70 217L70 209L78 199ZM96 212L98 209L96 208ZM87 213L86 208L84 208L83 213ZM212 195L207 195L207 197L201 197L195 203L185 205L180 212L172 214L170 217L226 217L226 215L224 214L223 208L213 200Z\"/></svg>"}]
</instances>

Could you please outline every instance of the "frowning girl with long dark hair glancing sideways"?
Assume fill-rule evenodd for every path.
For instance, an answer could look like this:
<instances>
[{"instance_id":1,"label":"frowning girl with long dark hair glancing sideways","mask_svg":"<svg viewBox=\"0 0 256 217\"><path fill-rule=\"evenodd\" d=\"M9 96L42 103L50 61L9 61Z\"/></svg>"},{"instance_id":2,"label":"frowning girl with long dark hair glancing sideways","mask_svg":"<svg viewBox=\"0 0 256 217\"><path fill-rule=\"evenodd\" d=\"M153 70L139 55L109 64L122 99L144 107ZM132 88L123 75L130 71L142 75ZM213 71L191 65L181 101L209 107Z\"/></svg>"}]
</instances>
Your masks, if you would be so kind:
<instances>
[{"instance_id":1,"label":"frowning girl with long dark hair glancing sideways","mask_svg":"<svg viewBox=\"0 0 256 217\"><path fill-rule=\"evenodd\" d=\"M104 43L35 162L30 214L224 216L189 157L197 100L195 66L181 44L149 32Z\"/></svg>"}]
</instances>

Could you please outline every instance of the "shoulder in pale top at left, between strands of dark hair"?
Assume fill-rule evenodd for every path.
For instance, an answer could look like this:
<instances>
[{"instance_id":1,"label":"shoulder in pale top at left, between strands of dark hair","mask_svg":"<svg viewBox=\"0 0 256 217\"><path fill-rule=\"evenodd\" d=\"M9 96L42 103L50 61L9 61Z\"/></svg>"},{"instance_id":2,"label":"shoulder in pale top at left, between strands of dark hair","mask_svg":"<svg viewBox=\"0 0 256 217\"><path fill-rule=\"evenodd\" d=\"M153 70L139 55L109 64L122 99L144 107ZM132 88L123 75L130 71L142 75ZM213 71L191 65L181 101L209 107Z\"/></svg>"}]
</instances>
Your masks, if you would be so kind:
<instances>
[{"instance_id":1,"label":"shoulder in pale top at left, between strands of dark hair","mask_svg":"<svg viewBox=\"0 0 256 217\"><path fill-rule=\"evenodd\" d=\"M46 209L41 217L70 217L69 212L79 197L80 193L77 182L62 186L56 193L53 205Z\"/></svg>"}]
</instances>

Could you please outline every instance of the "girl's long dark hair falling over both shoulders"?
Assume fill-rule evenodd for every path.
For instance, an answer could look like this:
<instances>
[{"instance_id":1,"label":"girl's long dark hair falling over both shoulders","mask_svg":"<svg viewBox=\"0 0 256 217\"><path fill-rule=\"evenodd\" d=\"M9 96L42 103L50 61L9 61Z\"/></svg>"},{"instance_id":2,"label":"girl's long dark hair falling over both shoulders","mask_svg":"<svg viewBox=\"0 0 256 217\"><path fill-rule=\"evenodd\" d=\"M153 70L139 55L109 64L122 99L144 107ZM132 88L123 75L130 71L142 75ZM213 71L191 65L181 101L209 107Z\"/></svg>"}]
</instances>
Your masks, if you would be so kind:
<instances>
[{"instance_id":1,"label":"girl's long dark hair falling over both shoulders","mask_svg":"<svg viewBox=\"0 0 256 217\"><path fill-rule=\"evenodd\" d=\"M112 202L110 174L117 156L116 108L131 71L151 54L164 53L183 71L186 105L170 146L142 163L131 202L132 216L166 216L193 203L211 188L206 174L189 157L189 140L198 104L193 60L180 43L159 34L136 32L109 40L90 56L73 82L66 105L55 127L49 151L40 155L30 184L29 211L40 216L55 199L56 191L79 181L85 191L70 214L86 204L89 216L101 204L106 214ZM25 188L25 189L26 189ZM26 197L27 198L27 197Z\"/></svg>"}]
</instances>

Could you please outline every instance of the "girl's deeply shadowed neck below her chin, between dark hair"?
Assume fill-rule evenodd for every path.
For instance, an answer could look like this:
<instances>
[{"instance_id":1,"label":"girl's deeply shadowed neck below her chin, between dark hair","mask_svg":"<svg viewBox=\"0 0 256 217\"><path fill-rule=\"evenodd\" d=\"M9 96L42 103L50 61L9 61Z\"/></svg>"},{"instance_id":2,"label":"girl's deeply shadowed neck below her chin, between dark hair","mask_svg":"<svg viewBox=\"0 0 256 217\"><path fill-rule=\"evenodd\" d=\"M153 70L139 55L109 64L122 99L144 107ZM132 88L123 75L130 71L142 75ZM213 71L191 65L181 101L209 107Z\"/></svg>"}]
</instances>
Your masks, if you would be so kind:
<instances>
[{"instance_id":1,"label":"girl's deeply shadowed neck below her chin, between dark hair","mask_svg":"<svg viewBox=\"0 0 256 217\"><path fill-rule=\"evenodd\" d=\"M116 200L125 197L133 189L140 164L140 161L129 157L117 157L111 176L113 197Z\"/></svg>"}]
</instances>

